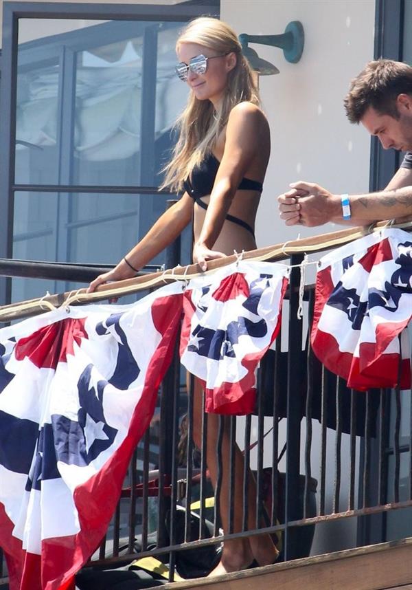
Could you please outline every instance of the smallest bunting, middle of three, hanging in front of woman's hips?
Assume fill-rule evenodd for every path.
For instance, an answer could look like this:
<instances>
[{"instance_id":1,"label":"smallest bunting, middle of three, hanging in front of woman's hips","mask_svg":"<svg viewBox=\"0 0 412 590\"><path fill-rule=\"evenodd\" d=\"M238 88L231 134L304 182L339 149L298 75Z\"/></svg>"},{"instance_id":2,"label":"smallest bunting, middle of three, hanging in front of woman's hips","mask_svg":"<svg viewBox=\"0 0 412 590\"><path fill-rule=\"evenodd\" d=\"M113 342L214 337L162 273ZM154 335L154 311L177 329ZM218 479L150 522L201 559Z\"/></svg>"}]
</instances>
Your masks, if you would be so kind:
<instances>
[{"instance_id":1,"label":"smallest bunting, middle of three, hanging in front of woman's hips","mask_svg":"<svg viewBox=\"0 0 412 590\"><path fill-rule=\"evenodd\" d=\"M279 331L287 285L286 265L251 261L190 281L181 363L203 383L207 412L253 412L255 369Z\"/></svg>"}]
</instances>

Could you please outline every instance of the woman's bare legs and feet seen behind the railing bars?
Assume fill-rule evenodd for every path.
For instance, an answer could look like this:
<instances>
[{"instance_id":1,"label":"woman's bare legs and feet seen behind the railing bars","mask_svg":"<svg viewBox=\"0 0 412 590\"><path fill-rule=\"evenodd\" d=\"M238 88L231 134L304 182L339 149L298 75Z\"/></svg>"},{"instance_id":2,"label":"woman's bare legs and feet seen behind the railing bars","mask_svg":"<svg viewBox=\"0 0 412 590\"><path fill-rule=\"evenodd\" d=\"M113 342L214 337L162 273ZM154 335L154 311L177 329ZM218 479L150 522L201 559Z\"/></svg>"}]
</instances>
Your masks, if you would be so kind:
<instances>
[{"instance_id":1,"label":"woman's bare legs and feet seen behind the railing bars","mask_svg":"<svg viewBox=\"0 0 412 590\"><path fill-rule=\"evenodd\" d=\"M198 380L194 380L194 442L201 447L202 442L202 415L203 415L203 389ZM218 440L219 416L208 414L207 417L207 452L206 461L209 469L211 483L216 488L218 476L218 461L216 455L216 441ZM229 531L229 457L230 457L230 430L229 419L225 419L222 437L222 485L220 490L220 519L225 533ZM243 481L244 462L243 455L238 445L235 445L235 483L233 490L233 532L242 530L243 521ZM248 527L255 529L256 525L256 485L253 474L249 472L248 493ZM253 559L259 565L268 565L277 558L278 551L273 545L270 535L262 534L251 538L238 538L225 541L222 559L209 576L218 576L229 571L238 571L248 567Z\"/></svg>"}]
</instances>

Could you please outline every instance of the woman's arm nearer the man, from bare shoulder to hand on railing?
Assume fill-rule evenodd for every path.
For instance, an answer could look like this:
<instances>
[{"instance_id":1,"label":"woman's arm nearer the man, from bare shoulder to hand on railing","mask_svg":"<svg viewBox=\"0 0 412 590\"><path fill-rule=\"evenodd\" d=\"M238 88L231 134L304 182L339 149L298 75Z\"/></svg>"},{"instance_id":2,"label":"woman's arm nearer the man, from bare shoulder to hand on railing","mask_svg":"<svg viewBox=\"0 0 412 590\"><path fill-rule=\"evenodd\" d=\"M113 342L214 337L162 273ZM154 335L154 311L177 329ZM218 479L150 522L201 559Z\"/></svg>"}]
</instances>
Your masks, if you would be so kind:
<instances>
[{"instance_id":1,"label":"woman's arm nearer the man, from bare shoulder to hand on railing","mask_svg":"<svg viewBox=\"0 0 412 590\"><path fill-rule=\"evenodd\" d=\"M222 230L233 197L251 162L259 149L266 153L262 146L270 149L268 122L258 107L251 102L241 102L233 107L229 115L225 151L211 191L205 221L194 245L194 261L203 270L206 270L206 260L225 255L213 252L211 248Z\"/></svg>"}]
</instances>

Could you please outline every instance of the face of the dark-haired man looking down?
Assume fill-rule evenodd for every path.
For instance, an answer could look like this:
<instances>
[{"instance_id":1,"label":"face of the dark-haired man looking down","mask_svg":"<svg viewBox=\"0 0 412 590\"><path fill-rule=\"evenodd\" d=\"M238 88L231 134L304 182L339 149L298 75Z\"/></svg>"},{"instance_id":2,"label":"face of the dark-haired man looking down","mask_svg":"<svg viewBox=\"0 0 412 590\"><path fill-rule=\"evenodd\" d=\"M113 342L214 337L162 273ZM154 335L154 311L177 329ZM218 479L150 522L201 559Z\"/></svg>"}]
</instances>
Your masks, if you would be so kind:
<instances>
[{"instance_id":1,"label":"face of the dark-haired man looking down","mask_svg":"<svg viewBox=\"0 0 412 590\"><path fill-rule=\"evenodd\" d=\"M361 123L371 135L376 135L384 149L412 150L412 100L407 95L404 102L398 97L397 106L399 118L381 115L374 108L369 107L361 119Z\"/></svg>"}]
</instances>

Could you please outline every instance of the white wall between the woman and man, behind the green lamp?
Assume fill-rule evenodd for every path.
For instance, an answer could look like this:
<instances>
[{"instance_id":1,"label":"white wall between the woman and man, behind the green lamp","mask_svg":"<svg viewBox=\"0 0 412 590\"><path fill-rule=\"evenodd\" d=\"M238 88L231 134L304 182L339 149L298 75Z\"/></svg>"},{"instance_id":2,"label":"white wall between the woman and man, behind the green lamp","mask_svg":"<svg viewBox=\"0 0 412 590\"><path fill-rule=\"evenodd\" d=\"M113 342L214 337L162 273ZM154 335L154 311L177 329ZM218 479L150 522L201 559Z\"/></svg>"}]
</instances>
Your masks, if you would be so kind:
<instances>
[{"instance_id":1,"label":"white wall between the woman and man, behind the green lamp","mask_svg":"<svg viewBox=\"0 0 412 590\"><path fill-rule=\"evenodd\" d=\"M332 192L364 192L369 184L369 136L343 110L350 79L374 52L374 0L222 0L220 15L238 33L280 34L301 21L301 61L286 62L282 50L251 45L280 70L262 76L260 90L271 125L272 153L258 212L258 245L327 232L339 227L286 228L275 197L295 180Z\"/></svg>"}]
</instances>

